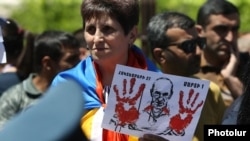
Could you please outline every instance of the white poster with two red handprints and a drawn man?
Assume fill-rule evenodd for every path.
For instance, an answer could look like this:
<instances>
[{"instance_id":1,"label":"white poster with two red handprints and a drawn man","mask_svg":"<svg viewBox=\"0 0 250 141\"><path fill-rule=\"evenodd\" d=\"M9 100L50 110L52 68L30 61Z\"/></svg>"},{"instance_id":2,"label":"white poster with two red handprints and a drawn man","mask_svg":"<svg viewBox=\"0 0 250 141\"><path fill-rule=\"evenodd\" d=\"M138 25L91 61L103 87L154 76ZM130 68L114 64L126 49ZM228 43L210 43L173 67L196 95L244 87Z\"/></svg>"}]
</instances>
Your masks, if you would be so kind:
<instances>
[{"instance_id":1,"label":"white poster with two red handprints and a drawn man","mask_svg":"<svg viewBox=\"0 0 250 141\"><path fill-rule=\"evenodd\" d=\"M102 128L192 140L209 81L117 65Z\"/></svg>"}]
</instances>

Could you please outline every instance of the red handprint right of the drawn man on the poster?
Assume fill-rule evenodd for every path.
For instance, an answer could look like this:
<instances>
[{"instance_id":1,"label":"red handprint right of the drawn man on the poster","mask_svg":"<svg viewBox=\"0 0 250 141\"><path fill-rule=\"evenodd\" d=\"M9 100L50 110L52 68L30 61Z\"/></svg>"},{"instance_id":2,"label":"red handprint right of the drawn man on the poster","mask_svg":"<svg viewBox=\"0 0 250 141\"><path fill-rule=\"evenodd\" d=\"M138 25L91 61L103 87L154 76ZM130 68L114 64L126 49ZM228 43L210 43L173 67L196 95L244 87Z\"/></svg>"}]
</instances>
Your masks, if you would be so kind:
<instances>
[{"instance_id":1,"label":"red handprint right of the drawn man on the poster","mask_svg":"<svg viewBox=\"0 0 250 141\"><path fill-rule=\"evenodd\" d=\"M180 99L179 99L179 113L170 118L169 127L177 132L177 134L183 133L184 129L191 123L193 119L193 114L203 105L203 100L194 108L194 104L199 96L199 93L194 95L194 90L191 89L189 91L189 96L186 101L186 107L183 105L183 91L180 91ZM191 102L192 96L195 96L193 101ZM184 115L186 114L186 115ZM184 118L181 116L184 115Z\"/></svg>"}]
</instances>

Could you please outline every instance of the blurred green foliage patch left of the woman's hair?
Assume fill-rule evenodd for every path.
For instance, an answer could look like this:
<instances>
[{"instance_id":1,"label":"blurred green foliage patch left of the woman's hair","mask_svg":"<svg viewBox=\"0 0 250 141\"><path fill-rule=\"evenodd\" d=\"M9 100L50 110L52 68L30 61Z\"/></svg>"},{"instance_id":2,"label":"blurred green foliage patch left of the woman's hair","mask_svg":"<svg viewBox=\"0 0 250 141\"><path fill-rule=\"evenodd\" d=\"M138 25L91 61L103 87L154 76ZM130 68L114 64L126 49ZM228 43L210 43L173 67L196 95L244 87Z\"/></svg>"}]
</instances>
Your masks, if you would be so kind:
<instances>
[{"instance_id":1,"label":"blurred green foliage patch left of the woman's hair","mask_svg":"<svg viewBox=\"0 0 250 141\"><path fill-rule=\"evenodd\" d=\"M82 27L81 0L24 0L12 18L29 31L40 33L46 29L72 32Z\"/></svg>"}]
</instances>

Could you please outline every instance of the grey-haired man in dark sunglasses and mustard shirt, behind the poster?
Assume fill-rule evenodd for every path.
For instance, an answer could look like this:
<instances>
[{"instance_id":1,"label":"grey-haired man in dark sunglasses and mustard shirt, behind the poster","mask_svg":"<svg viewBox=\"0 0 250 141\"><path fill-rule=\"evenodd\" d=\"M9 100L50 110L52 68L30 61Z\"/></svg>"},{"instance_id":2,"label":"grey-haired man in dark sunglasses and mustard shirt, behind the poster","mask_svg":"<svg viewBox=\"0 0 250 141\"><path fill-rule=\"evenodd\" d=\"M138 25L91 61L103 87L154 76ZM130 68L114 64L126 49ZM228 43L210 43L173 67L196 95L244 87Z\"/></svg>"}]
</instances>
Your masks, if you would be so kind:
<instances>
[{"instance_id":1,"label":"grey-haired man in dark sunglasses and mustard shirt, behind the poster","mask_svg":"<svg viewBox=\"0 0 250 141\"><path fill-rule=\"evenodd\" d=\"M178 12L157 14L148 24L147 35L152 56L163 73L194 77L199 72L206 39L198 36L190 17ZM203 141L203 125L221 123L225 108L219 87L211 82L193 141Z\"/></svg>"}]
</instances>

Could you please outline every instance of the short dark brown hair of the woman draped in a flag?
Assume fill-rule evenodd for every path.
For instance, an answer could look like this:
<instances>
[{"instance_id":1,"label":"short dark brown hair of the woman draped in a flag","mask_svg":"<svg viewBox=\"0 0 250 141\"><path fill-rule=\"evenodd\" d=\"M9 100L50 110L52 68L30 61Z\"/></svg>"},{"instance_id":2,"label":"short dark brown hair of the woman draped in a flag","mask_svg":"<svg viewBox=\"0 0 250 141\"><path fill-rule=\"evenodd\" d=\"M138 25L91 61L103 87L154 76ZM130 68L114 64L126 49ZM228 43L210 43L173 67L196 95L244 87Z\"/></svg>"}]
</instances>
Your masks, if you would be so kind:
<instances>
[{"instance_id":1,"label":"short dark brown hair of the woman draped in a flag","mask_svg":"<svg viewBox=\"0 0 250 141\"><path fill-rule=\"evenodd\" d=\"M81 6L84 22L91 18L109 15L122 26L125 35L139 22L138 0L84 0Z\"/></svg>"}]
</instances>

